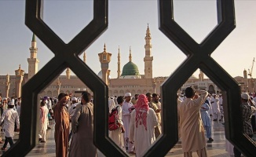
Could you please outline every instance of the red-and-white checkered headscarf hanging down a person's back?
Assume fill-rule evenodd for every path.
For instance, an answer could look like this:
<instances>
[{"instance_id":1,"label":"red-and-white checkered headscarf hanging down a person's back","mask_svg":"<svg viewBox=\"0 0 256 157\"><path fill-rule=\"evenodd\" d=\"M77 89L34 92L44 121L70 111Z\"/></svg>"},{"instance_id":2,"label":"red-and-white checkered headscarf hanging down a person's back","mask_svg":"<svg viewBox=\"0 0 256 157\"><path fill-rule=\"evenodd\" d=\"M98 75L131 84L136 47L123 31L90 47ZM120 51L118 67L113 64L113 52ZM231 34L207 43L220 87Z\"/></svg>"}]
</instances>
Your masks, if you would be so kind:
<instances>
[{"instance_id":1,"label":"red-and-white checkered headscarf hanging down a person's back","mask_svg":"<svg viewBox=\"0 0 256 157\"><path fill-rule=\"evenodd\" d=\"M137 104L135 105L135 111L136 111L136 127L137 123L140 122L143 123L145 130L147 130L147 115L148 115L148 99L144 94L139 95L137 99Z\"/></svg>"}]
</instances>

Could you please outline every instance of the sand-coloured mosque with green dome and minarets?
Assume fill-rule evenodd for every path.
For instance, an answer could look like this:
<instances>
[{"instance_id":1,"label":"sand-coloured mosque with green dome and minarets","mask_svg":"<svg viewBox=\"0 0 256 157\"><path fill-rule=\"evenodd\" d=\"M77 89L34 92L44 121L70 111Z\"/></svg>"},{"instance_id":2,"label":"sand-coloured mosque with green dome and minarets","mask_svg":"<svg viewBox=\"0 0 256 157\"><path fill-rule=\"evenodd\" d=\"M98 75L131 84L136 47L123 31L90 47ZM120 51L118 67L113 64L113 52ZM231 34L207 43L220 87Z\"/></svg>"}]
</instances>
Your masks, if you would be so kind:
<instances>
[{"instance_id":1,"label":"sand-coloured mosque with green dome and minarets","mask_svg":"<svg viewBox=\"0 0 256 157\"><path fill-rule=\"evenodd\" d=\"M109 96L123 96L129 92L133 95L141 93L160 93L161 84L168 77L152 76L153 56L151 33L149 27L146 30L145 53L144 53L144 75L141 75L137 65L133 63L132 54L130 52L129 62L123 66L121 71L120 52L118 53L118 71L117 78L111 79L108 64L111 61L112 53L108 53L104 45L104 51L98 53L101 62L101 71L98 76L108 85ZM30 57L27 58L28 71L19 68L15 71L15 75L0 75L0 96L1 97L21 97L21 87L38 72L37 58L38 48L36 46L35 35L32 37ZM83 53L83 61L86 62L86 53ZM253 92L255 89L255 79L247 78L247 71L243 71L243 77L237 76L234 78L241 85L241 91ZM209 93L221 92L210 79L204 78L202 71L199 72L199 77L191 76L177 93L182 93L188 86L196 86L199 89L205 89ZM82 91L93 93L76 75L71 75L71 70L67 68L66 75L60 75L57 79L39 93L39 97L57 97L58 93L72 93L75 97L80 97Z\"/></svg>"}]
</instances>

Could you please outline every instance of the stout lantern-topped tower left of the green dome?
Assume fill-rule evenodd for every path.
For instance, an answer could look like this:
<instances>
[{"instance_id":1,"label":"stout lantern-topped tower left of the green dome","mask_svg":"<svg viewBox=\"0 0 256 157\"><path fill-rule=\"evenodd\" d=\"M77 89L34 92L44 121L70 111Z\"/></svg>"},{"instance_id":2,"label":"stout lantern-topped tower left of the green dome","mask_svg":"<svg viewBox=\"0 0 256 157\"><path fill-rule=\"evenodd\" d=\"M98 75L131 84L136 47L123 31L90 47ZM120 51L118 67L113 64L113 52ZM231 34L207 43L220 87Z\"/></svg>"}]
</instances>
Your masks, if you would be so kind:
<instances>
[{"instance_id":1,"label":"stout lantern-topped tower left of the green dome","mask_svg":"<svg viewBox=\"0 0 256 157\"><path fill-rule=\"evenodd\" d=\"M108 64L111 61L112 53L108 53L106 51L106 44L104 44L104 51L102 53L98 53L99 60L101 62L101 71L102 71L102 80L108 85Z\"/></svg>"}]
</instances>

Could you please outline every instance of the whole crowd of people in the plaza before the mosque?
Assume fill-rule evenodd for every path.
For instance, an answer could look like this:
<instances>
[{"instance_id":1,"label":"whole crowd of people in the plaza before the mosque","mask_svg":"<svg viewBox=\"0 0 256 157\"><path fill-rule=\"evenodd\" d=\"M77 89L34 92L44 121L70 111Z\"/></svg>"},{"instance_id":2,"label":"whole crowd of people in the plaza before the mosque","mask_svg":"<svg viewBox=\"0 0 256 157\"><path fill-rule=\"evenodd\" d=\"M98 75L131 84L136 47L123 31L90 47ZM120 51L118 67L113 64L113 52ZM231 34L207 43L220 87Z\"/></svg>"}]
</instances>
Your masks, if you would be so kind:
<instances>
[{"instance_id":1,"label":"whole crowd of people in the plaza before the mosque","mask_svg":"<svg viewBox=\"0 0 256 157\"><path fill-rule=\"evenodd\" d=\"M249 137L255 133L255 94L241 94L243 132ZM20 128L21 98L0 97L0 123L5 133L5 143L13 145L14 131ZM46 143L49 120L54 119L56 156L97 156L93 144L93 97L83 92L82 97L60 93L58 97L42 97L40 101L39 133L40 143ZM112 141L130 155L143 156L162 133L162 104L156 93L125 93L120 97L108 98L109 114L116 110L118 128L109 131ZM188 87L185 93L177 94L178 136L184 156L196 152L199 157L207 155L207 142L213 142L212 122L224 122L223 99L220 93L207 93L202 89ZM212 118L210 118L212 116ZM212 120L211 120L212 119ZM206 140L206 137L208 140ZM1 138L1 137L0 137ZM86 142L86 144L85 144ZM2 138L0 143L3 143ZM227 147L230 144L227 141ZM231 150L231 151L230 151ZM231 155L241 152L232 147Z\"/></svg>"}]
</instances>

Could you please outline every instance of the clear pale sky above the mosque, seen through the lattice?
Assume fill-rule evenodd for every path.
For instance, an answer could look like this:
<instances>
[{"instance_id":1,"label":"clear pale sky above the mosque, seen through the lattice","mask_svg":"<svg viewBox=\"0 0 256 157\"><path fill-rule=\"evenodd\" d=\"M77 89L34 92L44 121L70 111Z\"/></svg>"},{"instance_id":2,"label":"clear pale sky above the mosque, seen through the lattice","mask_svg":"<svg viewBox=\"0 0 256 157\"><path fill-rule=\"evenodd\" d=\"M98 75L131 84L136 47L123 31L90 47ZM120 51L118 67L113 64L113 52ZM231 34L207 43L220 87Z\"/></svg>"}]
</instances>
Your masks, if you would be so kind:
<instances>
[{"instance_id":1,"label":"clear pale sky above the mosque, seen through the lattice","mask_svg":"<svg viewBox=\"0 0 256 157\"><path fill-rule=\"evenodd\" d=\"M68 43L93 19L92 0L46 0L43 20ZM251 68L256 44L256 1L235 0L236 28L212 53L214 58L232 77L243 76ZM121 68L129 61L129 47L133 63L144 74L144 37L147 24L152 35L153 76L169 76L186 58L161 31L158 24L156 0L109 0L108 29L86 49L86 64L97 74L101 71L98 53L106 43L112 53L109 64L112 78L117 77L117 53L120 46ZM0 75L14 75L21 65L27 72L32 32L24 24L24 0L0 0ZM217 24L215 0L174 0L174 20L196 40L203 38ZM38 68L41 69L53 53L37 38ZM82 55L81 55L82 58ZM253 76L256 77L256 67ZM195 74L198 77L198 72Z\"/></svg>"}]
</instances>

